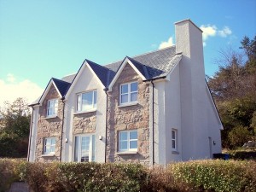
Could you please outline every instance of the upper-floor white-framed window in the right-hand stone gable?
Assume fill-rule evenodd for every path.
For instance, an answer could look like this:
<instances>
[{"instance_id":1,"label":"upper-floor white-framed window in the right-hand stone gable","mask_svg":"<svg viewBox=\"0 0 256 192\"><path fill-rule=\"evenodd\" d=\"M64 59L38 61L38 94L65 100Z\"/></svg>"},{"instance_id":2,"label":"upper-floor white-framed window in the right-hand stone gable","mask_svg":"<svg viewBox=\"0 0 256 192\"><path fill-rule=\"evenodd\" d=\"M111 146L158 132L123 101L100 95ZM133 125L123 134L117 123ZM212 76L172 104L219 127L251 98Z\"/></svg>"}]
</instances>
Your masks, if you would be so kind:
<instances>
[{"instance_id":1,"label":"upper-floor white-framed window in the right-hand stone gable","mask_svg":"<svg viewBox=\"0 0 256 192\"><path fill-rule=\"evenodd\" d=\"M120 103L137 102L137 82L121 84Z\"/></svg>"}]
</instances>

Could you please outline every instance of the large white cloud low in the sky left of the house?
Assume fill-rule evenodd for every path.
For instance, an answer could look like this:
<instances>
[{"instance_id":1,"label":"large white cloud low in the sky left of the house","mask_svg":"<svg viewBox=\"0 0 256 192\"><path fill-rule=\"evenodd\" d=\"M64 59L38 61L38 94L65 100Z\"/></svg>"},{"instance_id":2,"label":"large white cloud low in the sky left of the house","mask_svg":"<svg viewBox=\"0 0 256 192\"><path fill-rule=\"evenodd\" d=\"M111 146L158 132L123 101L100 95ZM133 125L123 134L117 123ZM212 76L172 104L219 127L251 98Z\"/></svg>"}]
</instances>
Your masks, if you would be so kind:
<instances>
[{"instance_id":1,"label":"large white cloud low in the sky left of the house","mask_svg":"<svg viewBox=\"0 0 256 192\"><path fill-rule=\"evenodd\" d=\"M11 73L6 79L0 79L0 90L0 106L6 101L14 102L18 97L25 98L28 103L34 102L44 91L28 79L17 81L15 75Z\"/></svg>"}]
</instances>

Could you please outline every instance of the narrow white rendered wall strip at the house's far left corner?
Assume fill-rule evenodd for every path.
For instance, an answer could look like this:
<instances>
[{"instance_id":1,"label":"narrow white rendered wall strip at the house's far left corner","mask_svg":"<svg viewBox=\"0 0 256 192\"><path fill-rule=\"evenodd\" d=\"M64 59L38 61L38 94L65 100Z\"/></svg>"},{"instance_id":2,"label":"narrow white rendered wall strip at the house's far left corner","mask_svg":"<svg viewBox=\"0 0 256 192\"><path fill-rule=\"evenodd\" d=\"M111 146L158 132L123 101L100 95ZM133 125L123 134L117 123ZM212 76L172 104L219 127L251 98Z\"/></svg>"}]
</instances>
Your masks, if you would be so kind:
<instances>
[{"instance_id":1,"label":"narrow white rendered wall strip at the house's far left corner","mask_svg":"<svg viewBox=\"0 0 256 192\"><path fill-rule=\"evenodd\" d=\"M39 106L33 107L33 116L32 116L32 131L30 136L30 152L29 152L29 161L33 162L36 158L36 139L37 139L37 131L38 131L38 111Z\"/></svg>"}]
</instances>

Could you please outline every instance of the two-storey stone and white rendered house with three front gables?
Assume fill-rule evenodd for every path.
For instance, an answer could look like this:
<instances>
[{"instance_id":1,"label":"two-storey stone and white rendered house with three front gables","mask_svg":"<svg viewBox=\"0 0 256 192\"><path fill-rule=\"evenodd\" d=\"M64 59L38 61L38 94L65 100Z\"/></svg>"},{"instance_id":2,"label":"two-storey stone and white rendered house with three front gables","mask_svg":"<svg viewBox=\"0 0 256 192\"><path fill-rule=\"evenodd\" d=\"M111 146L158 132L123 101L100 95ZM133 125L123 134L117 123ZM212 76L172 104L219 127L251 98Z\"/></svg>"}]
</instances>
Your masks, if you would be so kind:
<instances>
[{"instance_id":1,"label":"two-storey stone and white rendered house with three front gables","mask_svg":"<svg viewBox=\"0 0 256 192\"><path fill-rule=\"evenodd\" d=\"M221 152L218 111L205 80L202 31L175 23L176 45L50 79L33 102L29 161L210 159Z\"/></svg>"}]
</instances>

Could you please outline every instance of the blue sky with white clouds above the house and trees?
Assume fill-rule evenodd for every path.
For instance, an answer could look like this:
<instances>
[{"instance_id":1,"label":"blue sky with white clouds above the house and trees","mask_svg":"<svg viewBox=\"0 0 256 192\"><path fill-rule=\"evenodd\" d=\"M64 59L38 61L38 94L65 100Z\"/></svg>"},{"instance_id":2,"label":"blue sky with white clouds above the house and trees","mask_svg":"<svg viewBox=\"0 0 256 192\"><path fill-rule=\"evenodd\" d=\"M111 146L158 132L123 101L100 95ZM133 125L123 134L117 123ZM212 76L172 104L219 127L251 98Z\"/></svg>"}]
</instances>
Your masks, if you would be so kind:
<instances>
[{"instance_id":1,"label":"blue sky with white clouds above the house and trees","mask_svg":"<svg viewBox=\"0 0 256 192\"><path fill-rule=\"evenodd\" d=\"M0 107L33 102L84 59L106 65L175 44L174 23L203 30L205 71L256 35L256 0L0 0Z\"/></svg>"}]
</instances>

